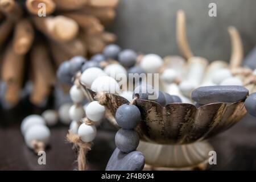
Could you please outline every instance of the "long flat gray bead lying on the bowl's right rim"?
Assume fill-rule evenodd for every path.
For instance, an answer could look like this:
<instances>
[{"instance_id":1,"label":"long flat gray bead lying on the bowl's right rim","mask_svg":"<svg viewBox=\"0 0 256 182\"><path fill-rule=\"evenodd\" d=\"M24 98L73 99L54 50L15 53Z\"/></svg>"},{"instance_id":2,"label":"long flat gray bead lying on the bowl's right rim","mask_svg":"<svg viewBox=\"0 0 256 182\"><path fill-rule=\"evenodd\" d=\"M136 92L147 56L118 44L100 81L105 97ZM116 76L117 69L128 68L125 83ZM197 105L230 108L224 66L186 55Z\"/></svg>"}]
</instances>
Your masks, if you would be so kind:
<instances>
[{"instance_id":1,"label":"long flat gray bead lying on the bowl's right rim","mask_svg":"<svg viewBox=\"0 0 256 182\"><path fill-rule=\"evenodd\" d=\"M249 91L243 86L202 86L193 90L191 98L199 104L237 102L244 100Z\"/></svg>"}]
</instances>

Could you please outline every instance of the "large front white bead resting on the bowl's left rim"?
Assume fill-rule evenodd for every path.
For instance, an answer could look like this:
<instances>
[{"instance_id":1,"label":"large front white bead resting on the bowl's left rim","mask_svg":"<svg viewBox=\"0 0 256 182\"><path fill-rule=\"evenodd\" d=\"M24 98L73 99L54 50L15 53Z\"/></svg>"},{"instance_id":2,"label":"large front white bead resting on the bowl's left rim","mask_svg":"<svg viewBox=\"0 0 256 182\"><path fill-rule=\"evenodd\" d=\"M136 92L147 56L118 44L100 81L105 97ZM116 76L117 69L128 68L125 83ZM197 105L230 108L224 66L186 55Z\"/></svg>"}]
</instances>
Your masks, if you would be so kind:
<instances>
[{"instance_id":1,"label":"large front white bead resting on the bowl's left rim","mask_svg":"<svg viewBox=\"0 0 256 182\"><path fill-rule=\"evenodd\" d=\"M91 89L95 92L119 93L118 82L110 76L101 76L93 81Z\"/></svg>"}]
</instances>

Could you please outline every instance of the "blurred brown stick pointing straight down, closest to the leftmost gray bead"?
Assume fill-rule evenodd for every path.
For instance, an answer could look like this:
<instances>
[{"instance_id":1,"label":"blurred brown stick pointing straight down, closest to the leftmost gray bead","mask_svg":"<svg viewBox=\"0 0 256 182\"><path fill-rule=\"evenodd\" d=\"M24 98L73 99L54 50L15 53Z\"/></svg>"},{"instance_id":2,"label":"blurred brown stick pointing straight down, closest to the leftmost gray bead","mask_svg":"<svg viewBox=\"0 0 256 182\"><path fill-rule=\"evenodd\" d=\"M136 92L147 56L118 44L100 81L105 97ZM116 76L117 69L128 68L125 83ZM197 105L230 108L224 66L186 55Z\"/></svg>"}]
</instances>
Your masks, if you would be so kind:
<instances>
[{"instance_id":1,"label":"blurred brown stick pointing straight down, closest to the leftmost gray bead","mask_svg":"<svg viewBox=\"0 0 256 182\"><path fill-rule=\"evenodd\" d=\"M55 84L55 73L49 59L46 46L36 44L31 51L33 71L33 91L30 101L40 105L48 97L51 87Z\"/></svg>"}]
</instances>

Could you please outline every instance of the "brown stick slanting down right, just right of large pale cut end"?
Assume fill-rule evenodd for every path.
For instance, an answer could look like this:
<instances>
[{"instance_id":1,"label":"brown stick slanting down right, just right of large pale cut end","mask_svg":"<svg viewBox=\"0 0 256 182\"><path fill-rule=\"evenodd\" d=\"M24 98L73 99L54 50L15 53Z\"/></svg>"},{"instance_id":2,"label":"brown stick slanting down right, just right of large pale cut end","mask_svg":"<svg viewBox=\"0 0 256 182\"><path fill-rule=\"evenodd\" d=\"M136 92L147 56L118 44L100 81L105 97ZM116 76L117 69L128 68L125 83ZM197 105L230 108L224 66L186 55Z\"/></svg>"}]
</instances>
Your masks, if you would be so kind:
<instances>
[{"instance_id":1,"label":"brown stick slanting down right, just right of large pale cut end","mask_svg":"<svg viewBox=\"0 0 256 182\"><path fill-rule=\"evenodd\" d=\"M102 26L100 21L92 15L81 13L64 13L63 15L75 20L82 29L88 32L88 34L96 34L104 31L104 26Z\"/></svg>"}]
</instances>

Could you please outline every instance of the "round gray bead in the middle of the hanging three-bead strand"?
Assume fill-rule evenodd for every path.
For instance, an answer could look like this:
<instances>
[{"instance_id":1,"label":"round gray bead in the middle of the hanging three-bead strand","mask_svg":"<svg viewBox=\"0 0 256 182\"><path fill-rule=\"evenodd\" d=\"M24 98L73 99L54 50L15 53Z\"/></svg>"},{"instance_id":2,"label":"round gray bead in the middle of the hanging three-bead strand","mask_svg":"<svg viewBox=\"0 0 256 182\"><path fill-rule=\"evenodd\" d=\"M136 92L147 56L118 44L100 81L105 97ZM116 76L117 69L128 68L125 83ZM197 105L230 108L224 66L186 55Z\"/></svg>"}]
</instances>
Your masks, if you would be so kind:
<instances>
[{"instance_id":1,"label":"round gray bead in the middle of the hanging three-bead strand","mask_svg":"<svg viewBox=\"0 0 256 182\"><path fill-rule=\"evenodd\" d=\"M134 130L120 129L115 134L115 146L125 153L135 151L139 145L139 135Z\"/></svg>"}]
</instances>

